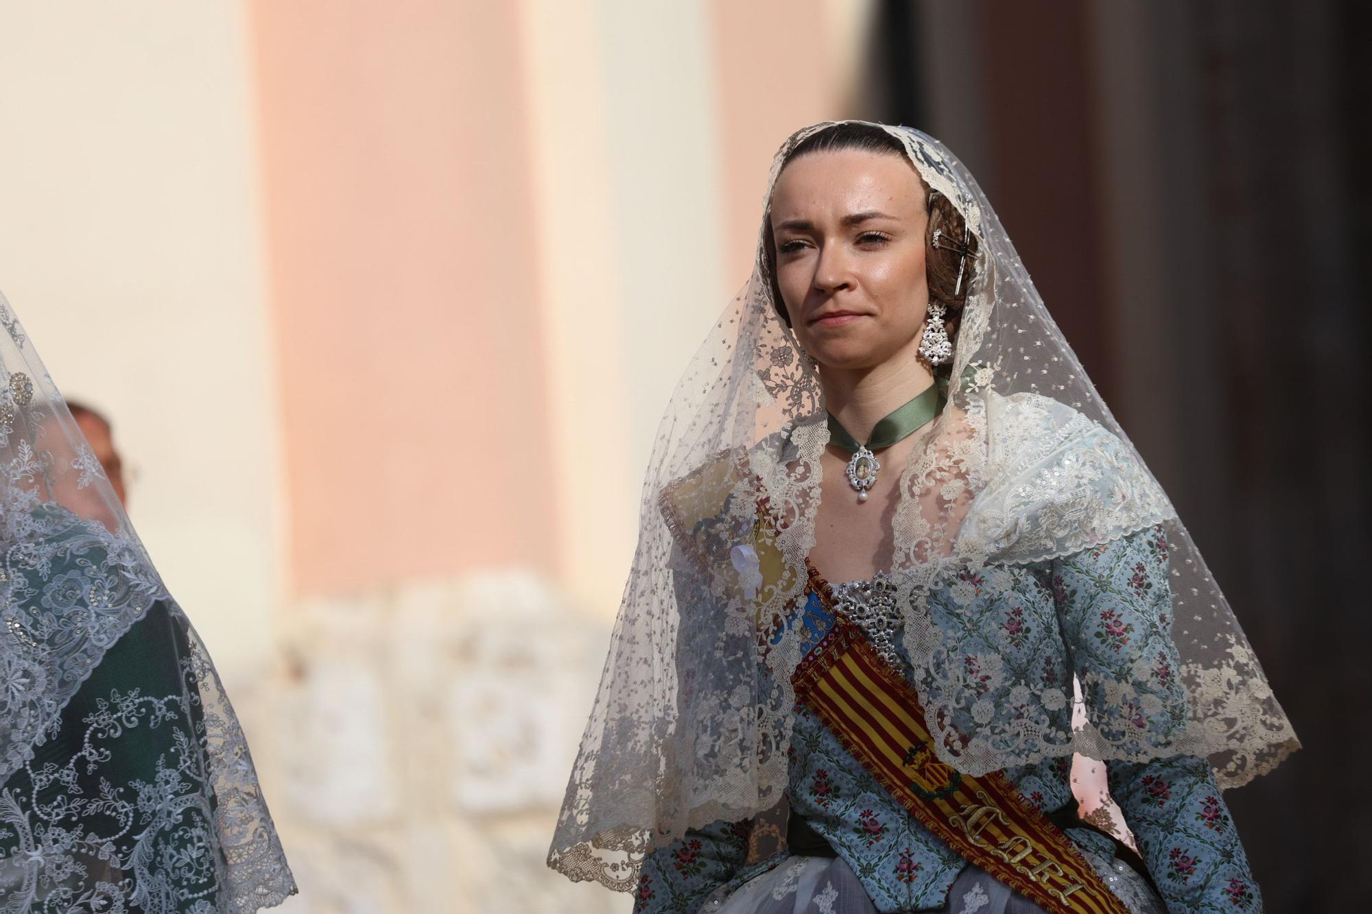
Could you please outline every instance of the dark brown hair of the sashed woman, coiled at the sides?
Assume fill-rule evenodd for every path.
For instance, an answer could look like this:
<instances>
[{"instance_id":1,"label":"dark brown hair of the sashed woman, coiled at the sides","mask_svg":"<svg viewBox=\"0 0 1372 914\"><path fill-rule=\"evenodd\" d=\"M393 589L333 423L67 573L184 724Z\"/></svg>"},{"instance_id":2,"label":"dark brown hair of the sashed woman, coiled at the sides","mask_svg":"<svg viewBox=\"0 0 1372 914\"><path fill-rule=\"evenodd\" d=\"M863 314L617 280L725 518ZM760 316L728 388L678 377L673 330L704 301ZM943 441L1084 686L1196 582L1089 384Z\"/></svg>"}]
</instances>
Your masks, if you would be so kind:
<instances>
[{"instance_id":1,"label":"dark brown hair of the sashed woman, coiled at the sides","mask_svg":"<svg viewBox=\"0 0 1372 914\"><path fill-rule=\"evenodd\" d=\"M785 170L792 161L801 155L834 152L837 150L899 155L906 162L910 162L904 144L884 128L874 124L836 124L797 143L786 154L786 158L782 159L781 170ZM969 257L962 276L962 288L955 292L954 290L958 288L958 261L960 258L956 251L945 247L934 247L933 236L936 229L943 229L944 237L960 243L967 224L962 218L962 213L952 204L952 200L938 191L932 189L918 170L915 172L915 177L919 178L919 185L925 189L925 206L929 213L929 226L925 232L925 274L929 283L929 299L943 302L948 307L944 324L948 338L955 339L962 306L967 302L967 288L971 285L975 273L977 236L969 236ZM790 318L786 316L786 303L782 301L781 287L777 284L777 240L772 237L771 231L770 204L763 225L763 262L767 268L767 280L771 283L772 306L786 325L790 327ZM941 366L941 369L944 372L951 371L947 365Z\"/></svg>"}]
</instances>

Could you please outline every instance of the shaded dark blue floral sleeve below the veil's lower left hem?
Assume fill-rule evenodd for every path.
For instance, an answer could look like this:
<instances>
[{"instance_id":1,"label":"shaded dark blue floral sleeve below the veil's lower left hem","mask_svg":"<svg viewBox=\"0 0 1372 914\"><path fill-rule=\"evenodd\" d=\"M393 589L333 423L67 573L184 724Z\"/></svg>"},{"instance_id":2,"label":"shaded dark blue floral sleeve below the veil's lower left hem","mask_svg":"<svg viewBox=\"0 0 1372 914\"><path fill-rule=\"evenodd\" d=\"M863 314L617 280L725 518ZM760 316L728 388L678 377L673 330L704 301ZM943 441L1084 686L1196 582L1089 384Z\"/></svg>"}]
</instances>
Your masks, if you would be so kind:
<instances>
[{"instance_id":1,"label":"shaded dark blue floral sleeve below the veil's lower left hem","mask_svg":"<svg viewBox=\"0 0 1372 914\"><path fill-rule=\"evenodd\" d=\"M643 860L634 914L693 914L729 882L748 855L748 822L712 822L660 847Z\"/></svg>"}]
</instances>

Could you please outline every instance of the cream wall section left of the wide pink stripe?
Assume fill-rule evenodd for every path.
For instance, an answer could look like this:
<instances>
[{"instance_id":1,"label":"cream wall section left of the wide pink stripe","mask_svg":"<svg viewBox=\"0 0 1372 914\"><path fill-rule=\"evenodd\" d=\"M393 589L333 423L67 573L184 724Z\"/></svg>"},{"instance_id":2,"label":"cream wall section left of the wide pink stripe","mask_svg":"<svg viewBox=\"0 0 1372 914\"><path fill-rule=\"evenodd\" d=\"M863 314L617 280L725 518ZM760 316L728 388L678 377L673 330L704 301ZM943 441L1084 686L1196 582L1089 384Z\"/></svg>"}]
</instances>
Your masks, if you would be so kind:
<instances>
[{"instance_id":1,"label":"cream wall section left of the wide pink stripe","mask_svg":"<svg viewBox=\"0 0 1372 914\"><path fill-rule=\"evenodd\" d=\"M281 571L241 12L0 4L0 288L113 417L133 523L230 690L270 655Z\"/></svg>"}]
</instances>

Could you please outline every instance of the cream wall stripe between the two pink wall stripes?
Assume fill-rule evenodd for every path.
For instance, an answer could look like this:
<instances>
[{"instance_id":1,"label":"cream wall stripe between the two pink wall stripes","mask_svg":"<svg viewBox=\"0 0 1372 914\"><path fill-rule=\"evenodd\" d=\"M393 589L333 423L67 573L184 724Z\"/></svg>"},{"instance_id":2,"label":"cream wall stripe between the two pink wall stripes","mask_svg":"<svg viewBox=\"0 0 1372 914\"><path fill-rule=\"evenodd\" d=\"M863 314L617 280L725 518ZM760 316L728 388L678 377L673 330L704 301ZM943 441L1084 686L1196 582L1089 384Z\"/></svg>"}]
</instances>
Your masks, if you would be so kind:
<instances>
[{"instance_id":1,"label":"cream wall stripe between the two pink wall stripes","mask_svg":"<svg viewBox=\"0 0 1372 914\"><path fill-rule=\"evenodd\" d=\"M524 4L558 564L602 619L619 607L663 406L729 294L707 12Z\"/></svg>"}]
</instances>

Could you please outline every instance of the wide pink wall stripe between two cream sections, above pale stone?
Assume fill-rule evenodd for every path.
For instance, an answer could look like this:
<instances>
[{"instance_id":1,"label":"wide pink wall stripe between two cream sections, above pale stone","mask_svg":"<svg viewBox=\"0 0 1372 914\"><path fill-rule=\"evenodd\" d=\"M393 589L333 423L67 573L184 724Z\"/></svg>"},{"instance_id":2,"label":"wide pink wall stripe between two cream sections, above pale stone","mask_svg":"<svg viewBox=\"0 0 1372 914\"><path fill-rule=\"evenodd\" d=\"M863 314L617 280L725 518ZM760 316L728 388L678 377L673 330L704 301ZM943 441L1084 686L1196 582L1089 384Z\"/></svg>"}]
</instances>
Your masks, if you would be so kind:
<instances>
[{"instance_id":1,"label":"wide pink wall stripe between two cream sections, above pale stone","mask_svg":"<svg viewBox=\"0 0 1372 914\"><path fill-rule=\"evenodd\" d=\"M517 8L250 7L292 591L550 571Z\"/></svg>"}]
</instances>

